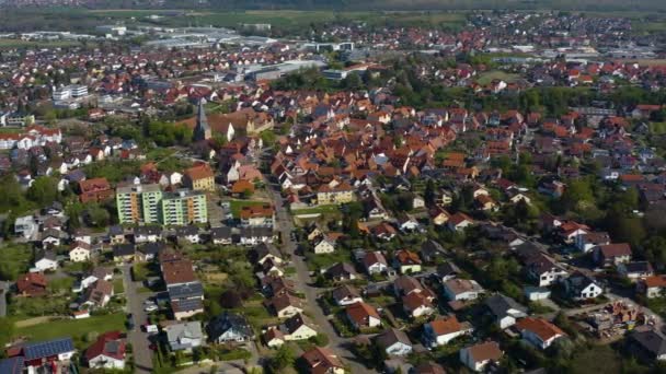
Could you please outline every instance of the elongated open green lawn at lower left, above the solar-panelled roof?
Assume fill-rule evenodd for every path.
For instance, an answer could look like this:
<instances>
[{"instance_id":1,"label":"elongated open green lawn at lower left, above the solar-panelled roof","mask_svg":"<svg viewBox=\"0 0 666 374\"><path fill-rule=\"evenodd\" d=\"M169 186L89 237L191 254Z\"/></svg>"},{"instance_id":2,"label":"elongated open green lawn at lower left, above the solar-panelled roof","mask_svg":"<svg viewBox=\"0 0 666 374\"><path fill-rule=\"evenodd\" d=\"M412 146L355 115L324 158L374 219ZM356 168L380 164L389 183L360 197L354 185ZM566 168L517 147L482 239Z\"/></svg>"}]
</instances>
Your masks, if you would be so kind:
<instances>
[{"instance_id":1,"label":"elongated open green lawn at lower left, above the solar-panelled roof","mask_svg":"<svg viewBox=\"0 0 666 374\"><path fill-rule=\"evenodd\" d=\"M93 316L85 319L57 319L47 324L37 324L15 328L14 337L26 337L30 341L71 337L74 341L82 340L91 331L103 334L125 329L125 315L110 314Z\"/></svg>"}]
</instances>

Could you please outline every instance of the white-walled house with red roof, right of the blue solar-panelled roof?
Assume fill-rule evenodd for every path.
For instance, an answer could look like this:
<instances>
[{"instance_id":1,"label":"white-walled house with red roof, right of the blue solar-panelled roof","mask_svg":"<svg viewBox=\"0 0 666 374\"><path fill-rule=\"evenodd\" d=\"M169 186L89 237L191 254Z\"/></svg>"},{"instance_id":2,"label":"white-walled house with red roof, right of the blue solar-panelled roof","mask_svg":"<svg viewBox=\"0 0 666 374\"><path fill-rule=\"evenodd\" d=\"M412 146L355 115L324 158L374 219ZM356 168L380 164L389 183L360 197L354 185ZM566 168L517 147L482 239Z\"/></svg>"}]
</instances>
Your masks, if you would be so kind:
<instances>
[{"instance_id":1,"label":"white-walled house with red roof, right of the blue solar-panelled roof","mask_svg":"<svg viewBox=\"0 0 666 374\"><path fill-rule=\"evenodd\" d=\"M85 350L85 362L90 369L124 370L127 343L120 331L108 331Z\"/></svg>"}]
</instances>

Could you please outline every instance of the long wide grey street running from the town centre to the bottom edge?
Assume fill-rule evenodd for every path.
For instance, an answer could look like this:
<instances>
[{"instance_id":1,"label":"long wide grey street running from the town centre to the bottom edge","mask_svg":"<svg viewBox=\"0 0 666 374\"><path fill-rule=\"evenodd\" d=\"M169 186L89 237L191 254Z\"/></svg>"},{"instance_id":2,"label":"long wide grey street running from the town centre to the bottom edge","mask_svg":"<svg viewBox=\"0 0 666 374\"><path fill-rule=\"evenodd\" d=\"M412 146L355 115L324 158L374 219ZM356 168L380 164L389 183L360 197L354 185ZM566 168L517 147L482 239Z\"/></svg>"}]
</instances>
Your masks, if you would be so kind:
<instances>
[{"instance_id":1,"label":"long wide grey street running from the town centre to the bottom edge","mask_svg":"<svg viewBox=\"0 0 666 374\"><path fill-rule=\"evenodd\" d=\"M291 257L291 262L294 264L297 274L297 278L295 279L296 289L305 293L307 305L310 306L309 309L312 314L312 318L321 328L320 332L325 334L329 337L329 347L344 360L344 362L352 370L352 373L375 373L376 371L367 369L361 362L358 361L358 359L356 359L354 353L352 353L352 339L340 337L333 328L333 325L331 325L326 316L323 314L317 302L317 299L319 297L319 290L311 285L312 280L310 278L308 265L303 261L302 257L295 254L296 243L291 241L290 235L291 231L294 230L294 221L284 206L285 201L279 191L273 188L269 188L269 190L275 203L276 229L282 235L282 250Z\"/></svg>"}]
</instances>

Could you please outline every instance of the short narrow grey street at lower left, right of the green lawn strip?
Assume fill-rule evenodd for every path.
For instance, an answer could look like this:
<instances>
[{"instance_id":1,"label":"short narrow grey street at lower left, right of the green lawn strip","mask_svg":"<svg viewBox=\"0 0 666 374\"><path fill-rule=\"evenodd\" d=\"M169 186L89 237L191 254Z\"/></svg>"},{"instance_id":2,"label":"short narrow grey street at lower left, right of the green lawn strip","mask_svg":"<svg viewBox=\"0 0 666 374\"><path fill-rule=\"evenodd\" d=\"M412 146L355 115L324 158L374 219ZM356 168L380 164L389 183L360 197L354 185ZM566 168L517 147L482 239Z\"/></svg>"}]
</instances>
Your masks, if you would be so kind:
<instances>
[{"instance_id":1,"label":"short narrow grey street at lower left, right of the green lawn strip","mask_svg":"<svg viewBox=\"0 0 666 374\"><path fill-rule=\"evenodd\" d=\"M131 266L123 266L123 280L125 283L125 296L127 297L127 309L131 313L135 328L127 332L127 338L134 350L135 373L152 372L152 351L148 334L142 332L140 326L146 324L147 314L143 312L143 302L149 293L139 293L140 282L131 280Z\"/></svg>"}]
</instances>

